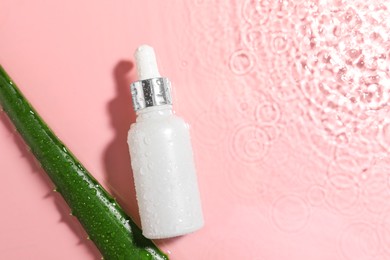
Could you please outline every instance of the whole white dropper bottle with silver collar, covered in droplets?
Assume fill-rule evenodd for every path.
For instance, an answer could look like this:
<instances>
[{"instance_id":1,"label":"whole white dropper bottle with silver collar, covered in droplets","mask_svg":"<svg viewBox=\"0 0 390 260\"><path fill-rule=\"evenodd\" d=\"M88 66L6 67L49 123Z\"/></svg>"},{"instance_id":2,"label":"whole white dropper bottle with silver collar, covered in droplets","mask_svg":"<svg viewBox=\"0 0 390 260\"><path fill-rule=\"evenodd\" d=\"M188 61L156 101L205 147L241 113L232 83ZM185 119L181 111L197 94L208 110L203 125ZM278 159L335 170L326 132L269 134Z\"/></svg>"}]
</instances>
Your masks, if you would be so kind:
<instances>
[{"instance_id":1,"label":"whole white dropper bottle with silver collar, covered in droplets","mask_svg":"<svg viewBox=\"0 0 390 260\"><path fill-rule=\"evenodd\" d=\"M153 48L140 46L135 59L137 119L128 144L142 233L150 239L184 235L203 226L189 127L172 111L170 82L160 76Z\"/></svg>"}]
</instances>

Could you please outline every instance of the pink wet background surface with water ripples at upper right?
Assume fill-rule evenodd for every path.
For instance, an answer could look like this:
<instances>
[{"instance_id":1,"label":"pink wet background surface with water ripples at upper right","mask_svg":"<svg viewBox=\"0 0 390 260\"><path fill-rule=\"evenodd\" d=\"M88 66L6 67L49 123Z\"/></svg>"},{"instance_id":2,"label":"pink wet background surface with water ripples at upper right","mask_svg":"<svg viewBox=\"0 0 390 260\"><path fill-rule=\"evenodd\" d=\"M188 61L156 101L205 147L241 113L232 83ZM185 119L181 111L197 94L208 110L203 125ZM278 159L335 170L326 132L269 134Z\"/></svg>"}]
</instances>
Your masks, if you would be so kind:
<instances>
[{"instance_id":1,"label":"pink wet background surface with water ripples at upper right","mask_svg":"<svg viewBox=\"0 0 390 260\"><path fill-rule=\"evenodd\" d=\"M384 2L380 4L380 2ZM132 53L192 126L205 227L171 259L390 259L386 1L0 0L0 63L139 223ZM100 259L0 114L0 258Z\"/></svg>"}]
</instances>

